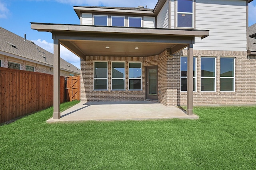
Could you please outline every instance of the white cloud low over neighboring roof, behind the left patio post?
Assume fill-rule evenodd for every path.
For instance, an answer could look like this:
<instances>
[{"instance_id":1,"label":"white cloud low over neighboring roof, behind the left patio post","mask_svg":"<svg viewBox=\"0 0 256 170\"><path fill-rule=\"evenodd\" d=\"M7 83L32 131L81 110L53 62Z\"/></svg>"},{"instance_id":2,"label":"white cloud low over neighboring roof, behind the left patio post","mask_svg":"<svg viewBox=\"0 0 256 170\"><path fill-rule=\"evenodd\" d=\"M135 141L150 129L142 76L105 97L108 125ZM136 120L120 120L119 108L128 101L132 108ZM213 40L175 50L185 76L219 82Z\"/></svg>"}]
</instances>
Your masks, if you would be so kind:
<instances>
[{"instance_id":1,"label":"white cloud low over neighboring roof, behind the left patio post","mask_svg":"<svg viewBox=\"0 0 256 170\"><path fill-rule=\"evenodd\" d=\"M49 43L45 40L32 40L36 45L40 46L41 48L53 53L53 43ZM80 58L76 56L74 53L66 49L64 46L60 45L60 57L67 61L68 63L73 64L77 68L80 69Z\"/></svg>"}]
</instances>

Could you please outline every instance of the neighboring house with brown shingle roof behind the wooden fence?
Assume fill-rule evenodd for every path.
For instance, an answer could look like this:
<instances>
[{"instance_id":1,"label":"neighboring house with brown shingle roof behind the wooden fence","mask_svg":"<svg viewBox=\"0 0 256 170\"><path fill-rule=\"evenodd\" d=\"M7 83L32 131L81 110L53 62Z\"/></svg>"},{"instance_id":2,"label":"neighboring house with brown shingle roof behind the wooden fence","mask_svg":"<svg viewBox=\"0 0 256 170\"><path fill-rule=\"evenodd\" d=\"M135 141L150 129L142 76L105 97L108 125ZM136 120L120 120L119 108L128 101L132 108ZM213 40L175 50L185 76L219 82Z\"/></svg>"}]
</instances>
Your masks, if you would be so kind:
<instances>
[{"instance_id":1,"label":"neighboring house with brown shingle roof behind the wooden fence","mask_svg":"<svg viewBox=\"0 0 256 170\"><path fill-rule=\"evenodd\" d=\"M0 66L53 74L53 54L32 41L0 27ZM80 75L80 69L60 58L60 76Z\"/></svg>"}]
</instances>

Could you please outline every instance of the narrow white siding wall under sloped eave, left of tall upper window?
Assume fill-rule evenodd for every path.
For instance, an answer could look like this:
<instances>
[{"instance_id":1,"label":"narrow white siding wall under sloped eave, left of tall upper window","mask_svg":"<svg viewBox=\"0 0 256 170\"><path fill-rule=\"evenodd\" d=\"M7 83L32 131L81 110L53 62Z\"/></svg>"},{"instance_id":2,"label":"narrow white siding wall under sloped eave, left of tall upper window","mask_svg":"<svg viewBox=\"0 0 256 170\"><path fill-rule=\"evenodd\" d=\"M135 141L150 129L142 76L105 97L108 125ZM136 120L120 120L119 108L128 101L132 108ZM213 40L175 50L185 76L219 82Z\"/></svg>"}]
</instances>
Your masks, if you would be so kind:
<instances>
[{"instance_id":1,"label":"narrow white siding wall under sloped eave, left of tall upper window","mask_svg":"<svg viewBox=\"0 0 256 170\"><path fill-rule=\"evenodd\" d=\"M157 16L158 28L169 28L169 1L166 1Z\"/></svg>"}]
</instances>

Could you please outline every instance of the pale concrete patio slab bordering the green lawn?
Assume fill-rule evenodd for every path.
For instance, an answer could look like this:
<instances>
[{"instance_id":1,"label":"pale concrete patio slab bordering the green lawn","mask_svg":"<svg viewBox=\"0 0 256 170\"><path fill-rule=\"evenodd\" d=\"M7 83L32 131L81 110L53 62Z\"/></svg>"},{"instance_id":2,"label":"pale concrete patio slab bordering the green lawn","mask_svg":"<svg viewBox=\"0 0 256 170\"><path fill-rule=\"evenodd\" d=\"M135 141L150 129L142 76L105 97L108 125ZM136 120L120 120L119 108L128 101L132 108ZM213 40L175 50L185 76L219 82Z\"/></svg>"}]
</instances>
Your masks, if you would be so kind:
<instances>
[{"instance_id":1,"label":"pale concrete patio slab bordering the green lawn","mask_svg":"<svg viewBox=\"0 0 256 170\"><path fill-rule=\"evenodd\" d=\"M63 111L60 119L49 119L46 122L65 121L112 121L144 119L198 119L197 115L186 115L178 107L166 107L157 102L80 102Z\"/></svg>"}]
</instances>

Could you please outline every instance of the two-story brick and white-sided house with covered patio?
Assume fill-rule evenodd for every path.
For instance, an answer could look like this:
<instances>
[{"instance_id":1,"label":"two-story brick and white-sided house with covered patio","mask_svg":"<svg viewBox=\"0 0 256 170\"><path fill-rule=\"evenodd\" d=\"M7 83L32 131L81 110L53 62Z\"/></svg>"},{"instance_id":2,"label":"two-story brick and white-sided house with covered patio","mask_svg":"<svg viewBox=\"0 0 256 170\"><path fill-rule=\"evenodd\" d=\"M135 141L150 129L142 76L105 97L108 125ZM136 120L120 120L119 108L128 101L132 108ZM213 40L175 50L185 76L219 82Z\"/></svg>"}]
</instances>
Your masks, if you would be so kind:
<instances>
[{"instance_id":1,"label":"two-story brick and white-sided house with covered patio","mask_svg":"<svg viewBox=\"0 0 256 170\"><path fill-rule=\"evenodd\" d=\"M191 115L193 105L256 104L256 59L247 57L251 1L74 6L80 25L31 28L52 33L56 59L60 43L81 58L82 102L155 100L187 105ZM58 99L57 90L54 95ZM54 107L58 119L59 105Z\"/></svg>"}]
</instances>

